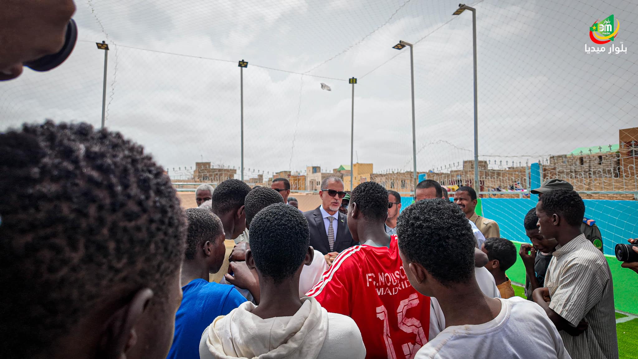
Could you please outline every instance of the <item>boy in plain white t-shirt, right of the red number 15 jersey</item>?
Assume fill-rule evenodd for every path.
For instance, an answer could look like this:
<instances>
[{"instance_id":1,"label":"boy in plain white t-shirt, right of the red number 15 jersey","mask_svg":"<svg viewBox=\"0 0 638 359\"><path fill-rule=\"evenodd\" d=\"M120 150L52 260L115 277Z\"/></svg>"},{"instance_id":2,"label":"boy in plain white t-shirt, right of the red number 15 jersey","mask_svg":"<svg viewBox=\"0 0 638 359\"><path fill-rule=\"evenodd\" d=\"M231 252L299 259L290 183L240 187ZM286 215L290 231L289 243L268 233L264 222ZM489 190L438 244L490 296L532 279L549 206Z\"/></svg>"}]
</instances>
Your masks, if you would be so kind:
<instances>
[{"instance_id":1,"label":"boy in plain white t-shirt, right of the red number 15 jersey","mask_svg":"<svg viewBox=\"0 0 638 359\"><path fill-rule=\"evenodd\" d=\"M415 358L570 358L536 303L482 293L473 275L475 240L458 206L416 202L399 216L397 235L410 284L436 298L445 316L445 330Z\"/></svg>"}]
</instances>

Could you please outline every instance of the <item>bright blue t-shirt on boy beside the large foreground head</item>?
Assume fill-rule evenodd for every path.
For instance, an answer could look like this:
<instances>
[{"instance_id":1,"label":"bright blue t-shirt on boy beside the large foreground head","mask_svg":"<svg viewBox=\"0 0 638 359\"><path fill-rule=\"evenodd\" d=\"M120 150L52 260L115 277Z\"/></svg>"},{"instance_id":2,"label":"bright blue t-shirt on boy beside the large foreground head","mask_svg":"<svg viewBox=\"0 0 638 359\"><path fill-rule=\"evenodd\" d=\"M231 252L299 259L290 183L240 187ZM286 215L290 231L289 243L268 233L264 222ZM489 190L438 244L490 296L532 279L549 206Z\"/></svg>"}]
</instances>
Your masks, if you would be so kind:
<instances>
[{"instance_id":1,"label":"bright blue t-shirt on boy beside the large foreground head","mask_svg":"<svg viewBox=\"0 0 638 359\"><path fill-rule=\"evenodd\" d=\"M218 316L246 302L235 286L191 280L182 287L182 303L175 314L175 336L167 359L199 359L199 342L207 326Z\"/></svg>"}]
</instances>

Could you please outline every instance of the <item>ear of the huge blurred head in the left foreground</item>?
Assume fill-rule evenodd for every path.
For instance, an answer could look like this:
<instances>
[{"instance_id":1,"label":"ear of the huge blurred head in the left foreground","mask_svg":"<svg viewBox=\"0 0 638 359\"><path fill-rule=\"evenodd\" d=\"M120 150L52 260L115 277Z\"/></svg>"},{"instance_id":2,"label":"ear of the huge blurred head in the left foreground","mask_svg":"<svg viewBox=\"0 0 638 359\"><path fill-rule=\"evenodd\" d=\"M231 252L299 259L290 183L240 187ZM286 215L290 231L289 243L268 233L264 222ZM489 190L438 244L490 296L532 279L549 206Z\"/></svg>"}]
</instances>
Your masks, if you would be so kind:
<instances>
[{"instance_id":1,"label":"ear of the huge blurred head in the left foreground","mask_svg":"<svg viewBox=\"0 0 638 359\"><path fill-rule=\"evenodd\" d=\"M150 288L142 288L108 318L98 349L102 358L126 358L126 353L137 344L135 325L144 315L152 297Z\"/></svg>"}]
</instances>

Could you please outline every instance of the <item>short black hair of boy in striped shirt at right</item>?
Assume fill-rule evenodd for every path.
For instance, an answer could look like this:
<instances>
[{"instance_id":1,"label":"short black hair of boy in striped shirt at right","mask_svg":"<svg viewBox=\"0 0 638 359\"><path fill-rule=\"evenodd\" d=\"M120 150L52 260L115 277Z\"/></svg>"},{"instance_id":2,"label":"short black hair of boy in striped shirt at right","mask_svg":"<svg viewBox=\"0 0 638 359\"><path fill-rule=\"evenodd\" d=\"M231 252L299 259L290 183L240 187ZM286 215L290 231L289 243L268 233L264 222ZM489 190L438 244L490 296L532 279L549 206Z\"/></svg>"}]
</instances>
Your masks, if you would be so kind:
<instances>
[{"instance_id":1,"label":"short black hair of boy in striped shirt at right","mask_svg":"<svg viewBox=\"0 0 638 359\"><path fill-rule=\"evenodd\" d=\"M560 217L565 218L568 225L574 227L581 225L582 217L585 216L585 203L575 190L567 188L551 190L543 194L540 202L540 208L548 216L560 215Z\"/></svg>"}]
</instances>

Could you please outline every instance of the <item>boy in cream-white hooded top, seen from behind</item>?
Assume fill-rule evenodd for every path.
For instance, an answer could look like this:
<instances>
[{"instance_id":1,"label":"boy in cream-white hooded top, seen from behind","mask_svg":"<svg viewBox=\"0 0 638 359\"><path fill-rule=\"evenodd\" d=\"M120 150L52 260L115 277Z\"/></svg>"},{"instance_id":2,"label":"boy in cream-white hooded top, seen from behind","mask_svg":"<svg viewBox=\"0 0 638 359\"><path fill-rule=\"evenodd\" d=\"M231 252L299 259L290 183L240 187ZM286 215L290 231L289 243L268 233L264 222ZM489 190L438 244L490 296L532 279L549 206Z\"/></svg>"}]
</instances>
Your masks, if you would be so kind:
<instances>
[{"instance_id":1,"label":"boy in cream-white hooded top, seen from behind","mask_svg":"<svg viewBox=\"0 0 638 359\"><path fill-rule=\"evenodd\" d=\"M365 358L355 321L299 298L301 270L315 254L309 244L308 221L297 208L275 203L255 215L246 265L259 277L259 305L245 302L217 317L202 334L201 359Z\"/></svg>"}]
</instances>

